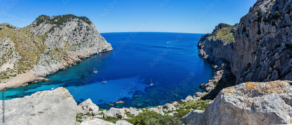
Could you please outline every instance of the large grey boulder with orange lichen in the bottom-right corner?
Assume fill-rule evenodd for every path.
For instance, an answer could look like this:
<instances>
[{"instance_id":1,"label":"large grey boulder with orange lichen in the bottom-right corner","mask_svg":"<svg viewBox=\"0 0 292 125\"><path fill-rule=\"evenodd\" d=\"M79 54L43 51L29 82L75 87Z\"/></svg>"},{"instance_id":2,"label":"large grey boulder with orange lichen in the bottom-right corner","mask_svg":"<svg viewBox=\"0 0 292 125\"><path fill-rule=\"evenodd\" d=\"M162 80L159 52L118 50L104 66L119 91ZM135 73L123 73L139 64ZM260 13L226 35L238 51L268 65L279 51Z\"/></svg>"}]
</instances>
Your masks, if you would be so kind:
<instances>
[{"instance_id":1,"label":"large grey boulder with orange lichen in the bottom-right corner","mask_svg":"<svg viewBox=\"0 0 292 125\"><path fill-rule=\"evenodd\" d=\"M225 88L185 124L292 124L292 81L247 82Z\"/></svg>"}]
</instances>

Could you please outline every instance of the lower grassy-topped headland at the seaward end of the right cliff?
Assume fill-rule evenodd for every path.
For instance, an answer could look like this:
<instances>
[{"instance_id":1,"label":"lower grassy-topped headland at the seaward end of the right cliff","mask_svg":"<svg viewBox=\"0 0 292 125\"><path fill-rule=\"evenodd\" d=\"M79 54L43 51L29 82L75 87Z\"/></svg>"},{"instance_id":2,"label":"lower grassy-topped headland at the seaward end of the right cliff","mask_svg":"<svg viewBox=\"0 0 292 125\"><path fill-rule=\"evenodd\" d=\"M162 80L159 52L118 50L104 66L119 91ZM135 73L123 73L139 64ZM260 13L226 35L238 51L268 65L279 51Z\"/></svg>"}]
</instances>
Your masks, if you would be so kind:
<instances>
[{"instance_id":1,"label":"lower grassy-topped headland at the seaward end of the right cliff","mask_svg":"<svg viewBox=\"0 0 292 125\"><path fill-rule=\"evenodd\" d=\"M212 34L202 35L198 41L199 55L212 62L231 62L235 26L220 23Z\"/></svg>"}]
</instances>

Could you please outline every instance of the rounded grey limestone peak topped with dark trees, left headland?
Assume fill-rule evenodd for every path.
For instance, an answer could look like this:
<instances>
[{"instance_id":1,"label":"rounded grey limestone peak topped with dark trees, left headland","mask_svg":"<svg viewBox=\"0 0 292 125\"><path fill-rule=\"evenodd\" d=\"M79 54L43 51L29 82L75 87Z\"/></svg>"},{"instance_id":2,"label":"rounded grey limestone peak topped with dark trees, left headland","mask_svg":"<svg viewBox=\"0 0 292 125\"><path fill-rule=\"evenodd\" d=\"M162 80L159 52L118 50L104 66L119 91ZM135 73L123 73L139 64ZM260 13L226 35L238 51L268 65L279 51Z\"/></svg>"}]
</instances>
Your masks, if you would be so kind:
<instances>
[{"instance_id":1,"label":"rounded grey limestone peak topped with dark trees, left headland","mask_svg":"<svg viewBox=\"0 0 292 125\"><path fill-rule=\"evenodd\" d=\"M112 50L111 44L105 41L86 17L41 15L29 27L33 34L44 36L44 44L52 49L63 48L76 55Z\"/></svg>"}]
</instances>

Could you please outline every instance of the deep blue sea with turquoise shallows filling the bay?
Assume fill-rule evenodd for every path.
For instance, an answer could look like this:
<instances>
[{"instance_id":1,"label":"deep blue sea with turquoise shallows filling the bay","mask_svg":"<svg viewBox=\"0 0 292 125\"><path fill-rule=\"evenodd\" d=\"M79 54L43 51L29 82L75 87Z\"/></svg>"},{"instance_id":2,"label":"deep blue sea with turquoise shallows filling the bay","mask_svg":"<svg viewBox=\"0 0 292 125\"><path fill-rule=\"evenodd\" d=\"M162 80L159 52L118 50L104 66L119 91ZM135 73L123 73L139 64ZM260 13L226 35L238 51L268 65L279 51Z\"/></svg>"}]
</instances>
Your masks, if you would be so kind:
<instances>
[{"instance_id":1,"label":"deep blue sea with turquoise shallows filling the bay","mask_svg":"<svg viewBox=\"0 0 292 125\"><path fill-rule=\"evenodd\" d=\"M102 109L152 107L184 99L203 89L215 70L198 56L202 34L165 32L101 33L113 51L48 75L48 81L7 89L6 100L60 86L79 104L90 98ZM93 68L98 73L93 73ZM103 79L107 81L103 84ZM153 86L150 86L152 79ZM117 101L124 104L116 105Z\"/></svg>"}]
</instances>

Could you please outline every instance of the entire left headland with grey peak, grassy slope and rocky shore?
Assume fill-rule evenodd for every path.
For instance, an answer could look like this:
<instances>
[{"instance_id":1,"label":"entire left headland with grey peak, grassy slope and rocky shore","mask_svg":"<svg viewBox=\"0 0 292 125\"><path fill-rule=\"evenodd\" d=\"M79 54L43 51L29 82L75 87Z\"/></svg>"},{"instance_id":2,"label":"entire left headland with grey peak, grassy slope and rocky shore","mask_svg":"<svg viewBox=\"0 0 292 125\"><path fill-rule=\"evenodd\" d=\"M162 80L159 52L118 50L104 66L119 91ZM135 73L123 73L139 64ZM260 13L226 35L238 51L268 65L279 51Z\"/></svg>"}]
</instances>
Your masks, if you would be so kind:
<instances>
[{"instance_id":1,"label":"entire left headland with grey peak, grassy slope and rocky shore","mask_svg":"<svg viewBox=\"0 0 292 125\"><path fill-rule=\"evenodd\" d=\"M2 23L0 41L0 90L46 80L80 58L112 50L88 18L74 15L41 15L24 28Z\"/></svg>"}]
</instances>

